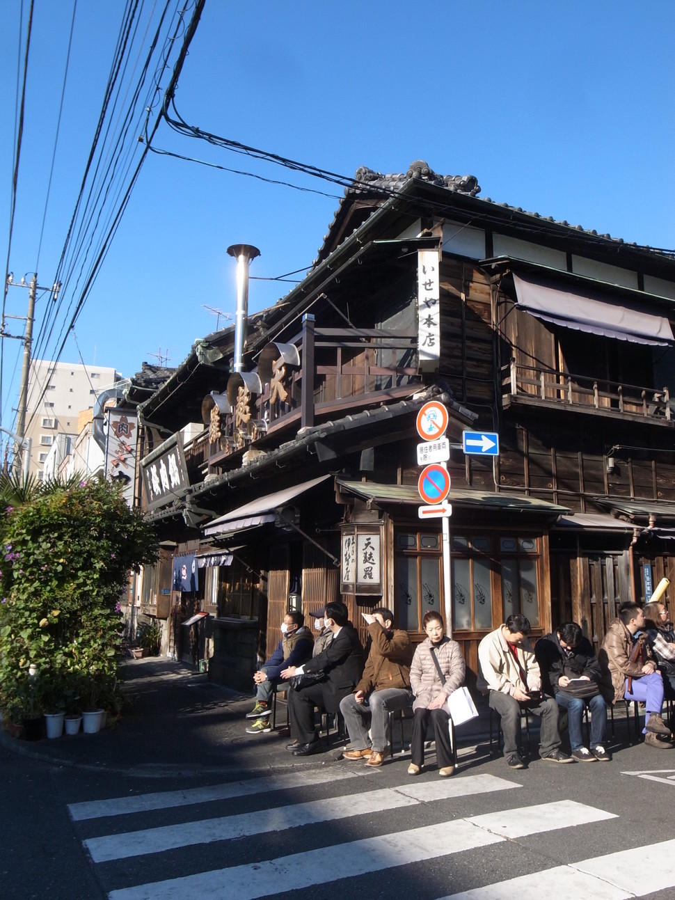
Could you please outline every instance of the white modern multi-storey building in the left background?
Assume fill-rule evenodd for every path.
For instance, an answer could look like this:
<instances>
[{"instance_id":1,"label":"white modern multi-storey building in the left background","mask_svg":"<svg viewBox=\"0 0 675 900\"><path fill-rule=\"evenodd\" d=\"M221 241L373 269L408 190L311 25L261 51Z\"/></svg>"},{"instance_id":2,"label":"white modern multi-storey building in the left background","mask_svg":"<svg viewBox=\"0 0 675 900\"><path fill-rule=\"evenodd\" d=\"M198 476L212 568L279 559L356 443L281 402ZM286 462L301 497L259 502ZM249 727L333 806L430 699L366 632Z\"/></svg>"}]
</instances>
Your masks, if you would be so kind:
<instances>
[{"instance_id":1,"label":"white modern multi-storey building in the left background","mask_svg":"<svg viewBox=\"0 0 675 900\"><path fill-rule=\"evenodd\" d=\"M92 410L96 398L121 379L115 369L103 365L53 363L33 359L28 382L25 437L31 439L29 471L44 477L49 448L58 443L63 450L75 444L79 431L77 419L84 410ZM70 438L65 442L59 435ZM69 449L64 455L69 453ZM61 457L61 453L56 454ZM49 462L58 471L60 458L52 454Z\"/></svg>"}]
</instances>

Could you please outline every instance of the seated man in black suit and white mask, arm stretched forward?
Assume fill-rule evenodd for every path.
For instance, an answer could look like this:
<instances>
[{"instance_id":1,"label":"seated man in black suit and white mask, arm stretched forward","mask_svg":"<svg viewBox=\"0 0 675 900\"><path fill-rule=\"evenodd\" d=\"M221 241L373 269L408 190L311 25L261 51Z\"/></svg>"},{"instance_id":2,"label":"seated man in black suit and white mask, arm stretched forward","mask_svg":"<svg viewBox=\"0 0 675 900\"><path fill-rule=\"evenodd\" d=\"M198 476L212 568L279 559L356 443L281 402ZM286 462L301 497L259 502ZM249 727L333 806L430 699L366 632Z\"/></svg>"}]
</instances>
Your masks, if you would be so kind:
<instances>
[{"instance_id":1,"label":"seated man in black suit and white mask, arm stretched forward","mask_svg":"<svg viewBox=\"0 0 675 900\"><path fill-rule=\"evenodd\" d=\"M327 713L337 713L340 700L351 694L364 671L364 648L354 628L347 625L344 603L329 603L324 612L326 627L333 640L318 656L302 666L289 666L282 671L284 679L305 672L320 672L324 680L306 688L293 689L289 698L291 734L295 741L288 749L293 756L309 756L321 749L319 734L314 726L314 707Z\"/></svg>"}]
</instances>

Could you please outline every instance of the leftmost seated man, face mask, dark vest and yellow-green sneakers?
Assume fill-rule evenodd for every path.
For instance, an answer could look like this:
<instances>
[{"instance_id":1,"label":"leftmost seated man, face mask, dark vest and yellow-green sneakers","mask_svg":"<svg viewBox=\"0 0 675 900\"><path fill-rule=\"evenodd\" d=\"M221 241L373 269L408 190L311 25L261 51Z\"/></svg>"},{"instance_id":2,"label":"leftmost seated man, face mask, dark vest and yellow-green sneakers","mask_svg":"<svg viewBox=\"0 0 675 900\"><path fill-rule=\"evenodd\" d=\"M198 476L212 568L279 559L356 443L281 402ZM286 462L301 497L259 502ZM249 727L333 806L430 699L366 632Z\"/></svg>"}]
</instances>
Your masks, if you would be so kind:
<instances>
[{"instance_id":1,"label":"leftmost seated man, face mask, dark vest and yellow-green sneakers","mask_svg":"<svg viewBox=\"0 0 675 900\"><path fill-rule=\"evenodd\" d=\"M289 609L281 626L281 641L276 650L253 676L257 685L256 706L247 713L247 719L255 719L247 727L247 734L263 734L272 731L269 716L272 712L272 691L279 681L281 671L289 665L301 665L311 658L314 638L304 626L305 617L297 609Z\"/></svg>"}]
</instances>

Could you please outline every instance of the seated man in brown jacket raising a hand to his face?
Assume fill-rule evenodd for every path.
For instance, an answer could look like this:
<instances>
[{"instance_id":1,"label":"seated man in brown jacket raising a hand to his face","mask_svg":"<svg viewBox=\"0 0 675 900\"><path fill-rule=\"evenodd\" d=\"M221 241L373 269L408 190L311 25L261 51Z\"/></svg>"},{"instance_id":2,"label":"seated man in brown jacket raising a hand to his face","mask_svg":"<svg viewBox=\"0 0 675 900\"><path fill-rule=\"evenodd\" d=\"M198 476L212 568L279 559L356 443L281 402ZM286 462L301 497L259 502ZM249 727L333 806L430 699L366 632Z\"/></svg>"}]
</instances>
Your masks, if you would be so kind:
<instances>
[{"instance_id":1,"label":"seated man in brown jacket raising a hand to his face","mask_svg":"<svg viewBox=\"0 0 675 900\"><path fill-rule=\"evenodd\" d=\"M364 613L371 636L371 648L364 674L354 693L340 701L340 712L352 743L342 755L346 760L363 760L366 766L381 766L387 756L387 724L392 709L412 705L410 661L412 648L405 631L393 630L391 609L379 607ZM372 746L368 743L368 722Z\"/></svg>"}]
</instances>

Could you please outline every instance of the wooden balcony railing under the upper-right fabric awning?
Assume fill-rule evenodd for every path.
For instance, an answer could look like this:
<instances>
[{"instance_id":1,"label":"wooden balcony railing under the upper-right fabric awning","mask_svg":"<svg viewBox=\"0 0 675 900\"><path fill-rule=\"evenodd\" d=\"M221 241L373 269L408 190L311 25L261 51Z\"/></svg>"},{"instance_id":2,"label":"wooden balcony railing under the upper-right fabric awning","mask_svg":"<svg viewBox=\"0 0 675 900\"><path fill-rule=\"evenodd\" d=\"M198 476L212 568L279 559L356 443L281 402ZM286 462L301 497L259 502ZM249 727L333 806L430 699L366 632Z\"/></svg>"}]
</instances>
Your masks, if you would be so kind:
<instances>
[{"instance_id":1,"label":"wooden balcony railing under the upper-right fabric awning","mask_svg":"<svg viewBox=\"0 0 675 900\"><path fill-rule=\"evenodd\" d=\"M501 370L502 403L513 401L560 404L581 410L599 410L644 419L671 421L671 395L635 384L619 384L552 369L517 365L512 359Z\"/></svg>"}]
</instances>

